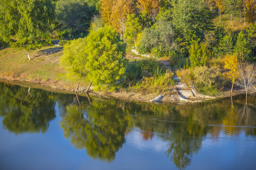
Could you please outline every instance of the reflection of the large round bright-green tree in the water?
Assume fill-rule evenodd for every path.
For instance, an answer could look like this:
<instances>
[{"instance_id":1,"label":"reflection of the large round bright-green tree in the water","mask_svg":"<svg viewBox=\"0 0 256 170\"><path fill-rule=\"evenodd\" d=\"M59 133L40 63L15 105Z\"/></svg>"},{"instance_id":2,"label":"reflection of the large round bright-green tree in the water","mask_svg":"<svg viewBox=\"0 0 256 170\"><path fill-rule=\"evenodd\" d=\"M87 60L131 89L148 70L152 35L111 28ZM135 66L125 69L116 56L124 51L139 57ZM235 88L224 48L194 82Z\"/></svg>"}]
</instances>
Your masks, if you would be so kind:
<instances>
[{"instance_id":1,"label":"reflection of the large round bright-green tree in the water","mask_svg":"<svg viewBox=\"0 0 256 170\"><path fill-rule=\"evenodd\" d=\"M85 148L92 158L112 161L125 142L128 122L119 114L116 101L95 99L92 106L67 106L66 116L61 120L64 136L75 147Z\"/></svg>"}]
</instances>

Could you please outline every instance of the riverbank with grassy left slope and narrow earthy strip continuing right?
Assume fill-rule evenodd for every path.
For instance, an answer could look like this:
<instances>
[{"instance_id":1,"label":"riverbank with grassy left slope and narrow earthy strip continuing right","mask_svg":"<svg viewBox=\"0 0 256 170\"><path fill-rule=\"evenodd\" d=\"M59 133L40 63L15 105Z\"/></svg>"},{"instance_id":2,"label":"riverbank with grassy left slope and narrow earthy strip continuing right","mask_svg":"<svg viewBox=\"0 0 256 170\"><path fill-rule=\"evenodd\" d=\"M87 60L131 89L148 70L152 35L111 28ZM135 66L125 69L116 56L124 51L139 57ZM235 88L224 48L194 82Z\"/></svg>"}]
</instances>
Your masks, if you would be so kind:
<instances>
[{"instance_id":1,"label":"riverbank with grassy left slope and narrow earthy strip continuing right","mask_svg":"<svg viewBox=\"0 0 256 170\"><path fill-rule=\"evenodd\" d=\"M74 93L77 82L65 78L65 70L59 65L59 59L62 55L62 47L50 46L43 47L40 50L31 52L31 60L27 59L26 51L6 48L0 50L0 79L16 85L29 85L36 88L49 88L50 91L56 90L64 93ZM85 87L88 83L81 82L80 87ZM224 89L217 98L243 93L241 89L235 89L236 92L229 93L229 89ZM81 91L82 92L82 88ZM116 92L96 92L91 95L105 98L117 98L119 100L150 101L161 95L162 102L202 102L211 100L208 98L193 94L192 99L184 99L174 87L165 93L136 93L125 89Z\"/></svg>"}]
</instances>

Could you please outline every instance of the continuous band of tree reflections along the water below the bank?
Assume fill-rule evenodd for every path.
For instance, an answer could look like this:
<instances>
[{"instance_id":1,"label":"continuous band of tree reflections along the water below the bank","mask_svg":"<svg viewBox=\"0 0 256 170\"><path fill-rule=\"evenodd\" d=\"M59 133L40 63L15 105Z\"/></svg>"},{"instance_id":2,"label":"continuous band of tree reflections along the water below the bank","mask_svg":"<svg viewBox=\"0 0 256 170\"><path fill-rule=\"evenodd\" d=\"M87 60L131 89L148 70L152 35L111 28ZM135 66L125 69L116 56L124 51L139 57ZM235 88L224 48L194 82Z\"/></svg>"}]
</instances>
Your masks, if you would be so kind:
<instances>
[{"instance_id":1,"label":"continuous band of tree reflections along the water below the bank","mask_svg":"<svg viewBox=\"0 0 256 170\"><path fill-rule=\"evenodd\" d=\"M0 116L9 132L46 132L59 107L64 136L94 159L111 162L125 136L140 129L144 141L168 143L166 156L185 169L207 134L256 136L256 98L244 95L193 104L120 102L77 94L59 94L0 83Z\"/></svg>"}]
</instances>

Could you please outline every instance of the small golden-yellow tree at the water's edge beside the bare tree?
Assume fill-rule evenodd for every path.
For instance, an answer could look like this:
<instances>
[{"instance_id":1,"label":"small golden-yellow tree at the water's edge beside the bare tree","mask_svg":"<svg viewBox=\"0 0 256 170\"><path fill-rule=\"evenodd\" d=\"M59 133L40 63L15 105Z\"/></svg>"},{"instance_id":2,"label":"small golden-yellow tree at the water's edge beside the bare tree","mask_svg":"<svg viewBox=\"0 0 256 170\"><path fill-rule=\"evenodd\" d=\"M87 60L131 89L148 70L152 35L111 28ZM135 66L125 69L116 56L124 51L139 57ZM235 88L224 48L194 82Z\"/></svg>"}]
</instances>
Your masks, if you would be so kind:
<instances>
[{"instance_id":1,"label":"small golden-yellow tree at the water's edge beside the bare tree","mask_svg":"<svg viewBox=\"0 0 256 170\"><path fill-rule=\"evenodd\" d=\"M233 90L233 86L235 81L239 78L239 71L238 71L238 56L236 54L227 54L224 60L224 68L229 69L227 72L226 77L232 81L232 88L231 93Z\"/></svg>"}]
</instances>

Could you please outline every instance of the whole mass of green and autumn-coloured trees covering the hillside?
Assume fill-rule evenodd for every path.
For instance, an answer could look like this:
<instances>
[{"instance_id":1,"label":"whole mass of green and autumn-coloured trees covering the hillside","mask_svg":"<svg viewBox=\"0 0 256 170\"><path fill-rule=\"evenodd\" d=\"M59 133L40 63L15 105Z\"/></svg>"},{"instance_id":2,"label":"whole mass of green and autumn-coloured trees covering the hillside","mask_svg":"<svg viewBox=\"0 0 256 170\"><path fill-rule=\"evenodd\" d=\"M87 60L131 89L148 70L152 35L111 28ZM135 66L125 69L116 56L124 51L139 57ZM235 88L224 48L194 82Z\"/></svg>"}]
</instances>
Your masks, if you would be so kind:
<instances>
[{"instance_id":1,"label":"whole mass of green and autumn-coloured trees covering the hillside","mask_svg":"<svg viewBox=\"0 0 256 170\"><path fill-rule=\"evenodd\" d=\"M0 46L30 59L53 39L68 75L95 89L165 92L174 75L211 95L256 84L256 0L0 1Z\"/></svg>"}]
</instances>

